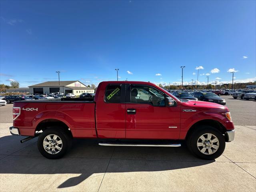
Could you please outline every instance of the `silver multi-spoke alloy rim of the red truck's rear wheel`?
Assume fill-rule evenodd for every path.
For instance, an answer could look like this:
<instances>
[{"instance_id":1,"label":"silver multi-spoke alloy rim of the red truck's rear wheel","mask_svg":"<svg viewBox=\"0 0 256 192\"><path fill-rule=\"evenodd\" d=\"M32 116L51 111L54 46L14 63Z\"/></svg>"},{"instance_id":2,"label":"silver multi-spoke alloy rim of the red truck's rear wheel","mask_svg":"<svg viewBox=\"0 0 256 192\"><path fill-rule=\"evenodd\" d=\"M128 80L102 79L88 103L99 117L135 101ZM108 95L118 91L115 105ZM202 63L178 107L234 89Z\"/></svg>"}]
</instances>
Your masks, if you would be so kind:
<instances>
[{"instance_id":1,"label":"silver multi-spoke alloy rim of the red truck's rear wheel","mask_svg":"<svg viewBox=\"0 0 256 192\"><path fill-rule=\"evenodd\" d=\"M44 150L50 154L57 154L62 149L62 140L55 134L50 134L44 138Z\"/></svg>"}]
</instances>

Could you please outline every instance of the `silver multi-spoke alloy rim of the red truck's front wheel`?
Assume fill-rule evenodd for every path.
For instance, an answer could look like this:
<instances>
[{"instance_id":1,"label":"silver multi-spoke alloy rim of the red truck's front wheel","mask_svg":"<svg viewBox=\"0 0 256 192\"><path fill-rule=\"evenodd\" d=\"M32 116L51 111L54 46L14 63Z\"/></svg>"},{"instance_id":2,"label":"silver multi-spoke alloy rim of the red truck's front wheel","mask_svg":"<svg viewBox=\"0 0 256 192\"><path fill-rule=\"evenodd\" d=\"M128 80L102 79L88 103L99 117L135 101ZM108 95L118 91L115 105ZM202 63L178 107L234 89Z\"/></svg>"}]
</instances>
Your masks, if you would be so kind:
<instances>
[{"instance_id":1,"label":"silver multi-spoke alloy rim of the red truck's front wheel","mask_svg":"<svg viewBox=\"0 0 256 192\"><path fill-rule=\"evenodd\" d=\"M197 140L198 150L205 155L214 154L218 150L219 146L218 138L211 133L205 133Z\"/></svg>"}]
</instances>

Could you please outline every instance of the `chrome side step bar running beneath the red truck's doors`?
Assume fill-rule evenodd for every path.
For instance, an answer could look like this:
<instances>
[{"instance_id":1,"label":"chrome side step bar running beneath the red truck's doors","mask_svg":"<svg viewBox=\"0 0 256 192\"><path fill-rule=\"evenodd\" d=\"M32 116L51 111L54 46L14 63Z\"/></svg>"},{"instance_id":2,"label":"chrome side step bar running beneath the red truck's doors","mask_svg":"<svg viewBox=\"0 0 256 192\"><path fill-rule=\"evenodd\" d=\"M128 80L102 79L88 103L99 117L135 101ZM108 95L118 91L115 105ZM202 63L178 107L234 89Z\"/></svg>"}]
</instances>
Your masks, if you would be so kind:
<instances>
[{"instance_id":1,"label":"chrome side step bar running beneath the red truck's doors","mask_svg":"<svg viewBox=\"0 0 256 192\"><path fill-rule=\"evenodd\" d=\"M100 142L101 146L131 146L131 147L180 147L181 144L134 144L117 142Z\"/></svg>"}]
</instances>

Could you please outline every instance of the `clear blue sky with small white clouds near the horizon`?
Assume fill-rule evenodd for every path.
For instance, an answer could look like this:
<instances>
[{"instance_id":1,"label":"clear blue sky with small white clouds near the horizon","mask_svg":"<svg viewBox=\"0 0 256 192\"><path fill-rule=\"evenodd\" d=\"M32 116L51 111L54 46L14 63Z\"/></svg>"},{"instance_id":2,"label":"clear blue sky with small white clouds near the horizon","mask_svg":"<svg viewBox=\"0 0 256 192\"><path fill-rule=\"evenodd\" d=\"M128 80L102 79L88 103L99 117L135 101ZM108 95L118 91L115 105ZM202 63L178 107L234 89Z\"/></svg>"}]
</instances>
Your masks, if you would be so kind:
<instances>
[{"instance_id":1,"label":"clear blue sky with small white clouds near the horizon","mask_svg":"<svg viewBox=\"0 0 256 192\"><path fill-rule=\"evenodd\" d=\"M0 83L254 81L255 34L252 0L1 1Z\"/></svg>"}]
</instances>

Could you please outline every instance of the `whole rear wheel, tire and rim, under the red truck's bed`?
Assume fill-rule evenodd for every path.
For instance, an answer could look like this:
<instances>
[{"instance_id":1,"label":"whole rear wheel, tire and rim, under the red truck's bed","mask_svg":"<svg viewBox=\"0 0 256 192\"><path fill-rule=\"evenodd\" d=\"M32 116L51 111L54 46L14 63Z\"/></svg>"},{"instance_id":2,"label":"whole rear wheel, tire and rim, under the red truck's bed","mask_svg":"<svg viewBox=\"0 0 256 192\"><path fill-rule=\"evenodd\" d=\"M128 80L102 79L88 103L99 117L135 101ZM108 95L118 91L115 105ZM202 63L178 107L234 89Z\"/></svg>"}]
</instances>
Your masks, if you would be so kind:
<instances>
[{"instance_id":1,"label":"whole rear wheel, tire and rim, under the red truck's bed","mask_svg":"<svg viewBox=\"0 0 256 192\"><path fill-rule=\"evenodd\" d=\"M61 158L70 146L71 138L61 128L49 128L38 137L38 150L48 159Z\"/></svg>"}]
</instances>

